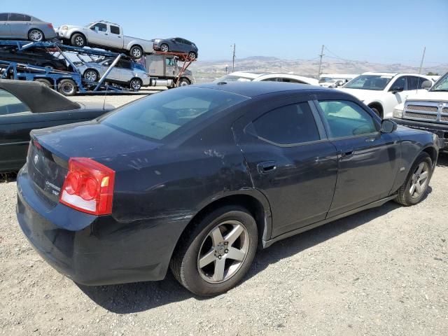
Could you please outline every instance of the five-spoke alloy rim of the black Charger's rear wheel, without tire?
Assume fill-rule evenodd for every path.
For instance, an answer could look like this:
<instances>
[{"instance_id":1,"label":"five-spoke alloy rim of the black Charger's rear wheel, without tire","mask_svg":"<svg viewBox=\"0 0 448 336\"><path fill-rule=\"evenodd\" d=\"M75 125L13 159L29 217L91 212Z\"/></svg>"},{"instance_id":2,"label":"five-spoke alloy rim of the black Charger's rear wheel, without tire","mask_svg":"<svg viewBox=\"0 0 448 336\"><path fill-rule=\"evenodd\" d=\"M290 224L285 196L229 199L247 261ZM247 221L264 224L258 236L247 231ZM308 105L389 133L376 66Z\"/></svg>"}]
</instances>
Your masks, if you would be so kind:
<instances>
[{"instance_id":1,"label":"five-spoke alloy rim of the black Charger's rear wheel, without tire","mask_svg":"<svg viewBox=\"0 0 448 336\"><path fill-rule=\"evenodd\" d=\"M248 253L248 232L239 221L224 221L202 241L197 270L208 283L222 283L237 274Z\"/></svg>"}]
</instances>

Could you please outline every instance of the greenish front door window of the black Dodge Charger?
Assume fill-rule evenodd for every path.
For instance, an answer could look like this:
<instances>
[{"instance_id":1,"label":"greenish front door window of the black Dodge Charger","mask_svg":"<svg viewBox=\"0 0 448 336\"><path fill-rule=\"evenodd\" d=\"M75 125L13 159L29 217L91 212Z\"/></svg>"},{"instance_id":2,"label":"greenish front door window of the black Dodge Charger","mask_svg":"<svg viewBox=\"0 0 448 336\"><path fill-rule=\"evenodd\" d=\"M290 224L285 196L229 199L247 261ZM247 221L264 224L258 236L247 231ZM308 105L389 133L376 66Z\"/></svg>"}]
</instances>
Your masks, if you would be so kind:
<instances>
[{"instance_id":1,"label":"greenish front door window of the black Dodge Charger","mask_svg":"<svg viewBox=\"0 0 448 336\"><path fill-rule=\"evenodd\" d=\"M320 101L319 105L332 138L377 132L372 116L354 102L325 100Z\"/></svg>"}]
</instances>

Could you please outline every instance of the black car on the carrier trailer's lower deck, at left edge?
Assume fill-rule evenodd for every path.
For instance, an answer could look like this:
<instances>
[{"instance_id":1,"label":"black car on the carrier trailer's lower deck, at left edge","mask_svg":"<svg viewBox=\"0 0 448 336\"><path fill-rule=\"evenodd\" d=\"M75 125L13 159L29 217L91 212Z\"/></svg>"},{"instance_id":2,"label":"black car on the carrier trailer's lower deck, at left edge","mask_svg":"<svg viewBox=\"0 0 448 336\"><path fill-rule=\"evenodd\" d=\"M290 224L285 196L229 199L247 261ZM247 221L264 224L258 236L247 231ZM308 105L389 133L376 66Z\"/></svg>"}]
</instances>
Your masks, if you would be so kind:
<instances>
[{"instance_id":1,"label":"black car on the carrier trailer's lower deck, at left edge","mask_svg":"<svg viewBox=\"0 0 448 336\"><path fill-rule=\"evenodd\" d=\"M59 59L42 48L16 51L11 48L0 48L0 59L37 66L50 66L56 70L71 71L64 59Z\"/></svg>"}]
</instances>

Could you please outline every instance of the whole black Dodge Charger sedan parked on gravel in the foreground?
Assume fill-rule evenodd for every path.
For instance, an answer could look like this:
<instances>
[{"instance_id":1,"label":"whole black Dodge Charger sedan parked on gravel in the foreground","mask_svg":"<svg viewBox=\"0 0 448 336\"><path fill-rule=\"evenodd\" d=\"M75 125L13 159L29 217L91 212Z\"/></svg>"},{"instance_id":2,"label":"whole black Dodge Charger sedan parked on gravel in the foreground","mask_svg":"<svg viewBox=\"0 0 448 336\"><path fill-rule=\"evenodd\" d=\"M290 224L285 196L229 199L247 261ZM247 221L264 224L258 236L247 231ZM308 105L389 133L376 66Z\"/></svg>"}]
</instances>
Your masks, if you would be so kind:
<instances>
[{"instance_id":1,"label":"whole black Dodge Charger sedan parked on gravel in the foreground","mask_svg":"<svg viewBox=\"0 0 448 336\"><path fill-rule=\"evenodd\" d=\"M197 295L244 276L257 247L389 200L426 195L437 139L343 92L213 83L31 132L17 216L87 285L160 280Z\"/></svg>"}]
</instances>

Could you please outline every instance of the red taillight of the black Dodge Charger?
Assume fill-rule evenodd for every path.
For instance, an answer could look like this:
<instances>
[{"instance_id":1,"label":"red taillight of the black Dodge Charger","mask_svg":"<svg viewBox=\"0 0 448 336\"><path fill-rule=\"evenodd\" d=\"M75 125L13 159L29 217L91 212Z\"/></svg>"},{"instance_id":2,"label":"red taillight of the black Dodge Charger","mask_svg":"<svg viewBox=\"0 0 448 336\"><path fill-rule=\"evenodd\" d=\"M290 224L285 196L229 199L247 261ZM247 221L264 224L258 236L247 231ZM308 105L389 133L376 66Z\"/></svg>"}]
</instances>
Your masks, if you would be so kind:
<instances>
[{"instance_id":1,"label":"red taillight of the black Dodge Charger","mask_svg":"<svg viewBox=\"0 0 448 336\"><path fill-rule=\"evenodd\" d=\"M112 213L115 172L89 158L71 158L59 202L92 215Z\"/></svg>"}]
</instances>

